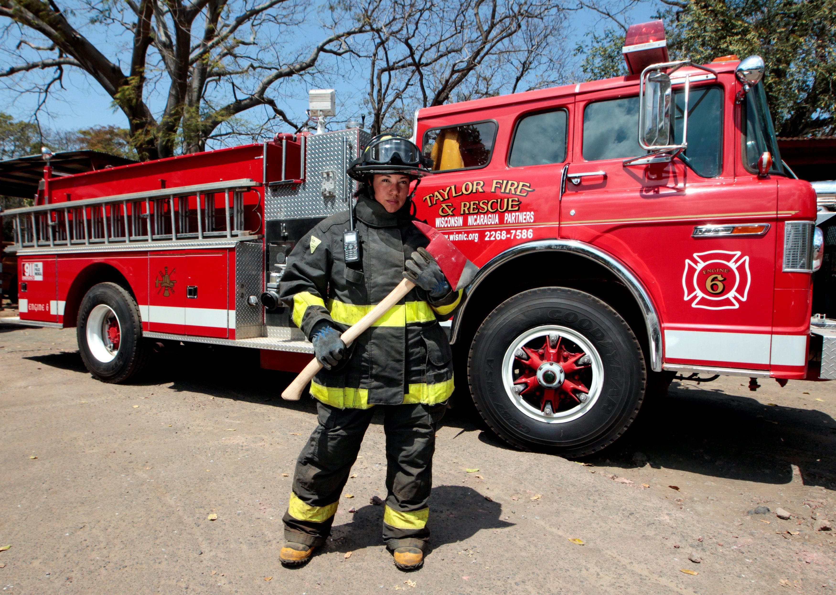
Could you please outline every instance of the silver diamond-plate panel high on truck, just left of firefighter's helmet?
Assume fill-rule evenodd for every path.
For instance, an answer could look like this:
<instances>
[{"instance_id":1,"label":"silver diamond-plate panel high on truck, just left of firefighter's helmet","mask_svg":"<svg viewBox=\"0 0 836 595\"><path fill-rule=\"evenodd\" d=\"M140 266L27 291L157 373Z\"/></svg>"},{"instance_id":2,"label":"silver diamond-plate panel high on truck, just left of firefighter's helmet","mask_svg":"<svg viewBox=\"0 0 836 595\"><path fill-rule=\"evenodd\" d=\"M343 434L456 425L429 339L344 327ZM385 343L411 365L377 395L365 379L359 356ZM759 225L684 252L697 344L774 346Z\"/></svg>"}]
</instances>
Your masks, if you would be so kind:
<instances>
[{"instance_id":1,"label":"silver diamond-plate panel high on truck, just left of firefighter's helmet","mask_svg":"<svg viewBox=\"0 0 836 595\"><path fill-rule=\"evenodd\" d=\"M268 187L265 217L275 219L308 219L328 217L349 208L349 200L357 184L345 173L371 139L365 130L338 130L325 134L311 134L305 140L305 181L298 186ZM329 179L327 172L331 172ZM333 184L328 195L324 186Z\"/></svg>"}]
</instances>

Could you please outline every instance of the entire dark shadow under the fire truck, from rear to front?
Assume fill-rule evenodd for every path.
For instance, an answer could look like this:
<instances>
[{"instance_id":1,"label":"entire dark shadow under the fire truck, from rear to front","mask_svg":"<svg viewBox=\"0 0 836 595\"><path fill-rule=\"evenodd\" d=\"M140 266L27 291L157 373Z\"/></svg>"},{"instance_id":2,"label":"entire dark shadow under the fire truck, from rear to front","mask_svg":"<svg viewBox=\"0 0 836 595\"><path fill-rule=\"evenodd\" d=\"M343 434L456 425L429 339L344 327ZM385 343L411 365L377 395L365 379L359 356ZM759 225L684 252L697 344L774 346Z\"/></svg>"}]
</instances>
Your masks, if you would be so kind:
<instances>
[{"instance_id":1,"label":"entire dark shadow under the fire truck, from rear to front","mask_svg":"<svg viewBox=\"0 0 836 595\"><path fill-rule=\"evenodd\" d=\"M33 355L29 360L88 375L79 353ZM315 401L283 401L293 374L262 370L256 350L219 345L166 345L155 353L150 371L133 382L167 384L171 391L193 391L216 398L262 403L297 411L316 411ZM460 432L480 431L479 439L509 448L488 431L459 381L455 406L444 425ZM372 423L380 424L380 416ZM455 440L455 438L453 439ZM635 467L644 453L653 466L708 477L750 482L789 483L797 465L806 485L836 489L836 421L822 411L767 406L747 396L727 395L710 385L675 382L668 396L646 403L630 430L613 446L585 459L595 465Z\"/></svg>"}]
</instances>

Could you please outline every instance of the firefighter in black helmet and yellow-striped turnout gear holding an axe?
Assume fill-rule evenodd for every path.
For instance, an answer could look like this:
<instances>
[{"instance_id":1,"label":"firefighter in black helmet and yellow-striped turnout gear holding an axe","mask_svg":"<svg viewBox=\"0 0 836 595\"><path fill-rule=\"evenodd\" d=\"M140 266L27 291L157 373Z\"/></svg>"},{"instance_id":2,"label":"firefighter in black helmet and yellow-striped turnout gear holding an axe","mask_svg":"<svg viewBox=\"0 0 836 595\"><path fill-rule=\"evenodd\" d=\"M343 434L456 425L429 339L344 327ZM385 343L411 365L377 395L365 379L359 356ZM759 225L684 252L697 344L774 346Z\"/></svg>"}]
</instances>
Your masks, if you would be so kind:
<instances>
[{"instance_id":1,"label":"firefighter in black helmet and yellow-striped turnout gear holding an axe","mask_svg":"<svg viewBox=\"0 0 836 595\"><path fill-rule=\"evenodd\" d=\"M386 435L383 539L401 570L424 562L436 430L453 391L451 347L438 321L461 300L412 224L410 184L430 173L427 161L407 139L376 136L347 171L361 183L354 209L324 219L288 258L279 296L324 370L311 383L318 423L298 457L283 517L287 543L279 559L286 566L307 562L329 536L377 406ZM352 230L359 234L356 259ZM347 347L340 335L403 277L415 289Z\"/></svg>"}]
</instances>

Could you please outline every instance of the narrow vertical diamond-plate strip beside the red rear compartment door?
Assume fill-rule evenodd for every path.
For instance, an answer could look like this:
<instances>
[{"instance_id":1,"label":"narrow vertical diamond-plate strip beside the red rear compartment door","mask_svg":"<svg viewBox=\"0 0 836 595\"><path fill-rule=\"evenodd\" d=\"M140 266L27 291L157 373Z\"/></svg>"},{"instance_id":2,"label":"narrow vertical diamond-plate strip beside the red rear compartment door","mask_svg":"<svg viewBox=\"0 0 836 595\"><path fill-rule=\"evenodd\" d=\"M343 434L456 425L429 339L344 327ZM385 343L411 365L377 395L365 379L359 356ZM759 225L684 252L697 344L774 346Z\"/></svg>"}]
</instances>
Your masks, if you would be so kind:
<instances>
[{"instance_id":1,"label":"narrow vertical diamond-plate strip beside the red rear compartment door","mask_svg":"<svg viewBox=\"0 0 836 595\"><path fill-rule=\"evenodd\" d=\"M235 246L235 338L263 336L263 305L249 305L250 295L260 296L264 280L264 250L260 242Z\"/></svg>"}]
</instances>

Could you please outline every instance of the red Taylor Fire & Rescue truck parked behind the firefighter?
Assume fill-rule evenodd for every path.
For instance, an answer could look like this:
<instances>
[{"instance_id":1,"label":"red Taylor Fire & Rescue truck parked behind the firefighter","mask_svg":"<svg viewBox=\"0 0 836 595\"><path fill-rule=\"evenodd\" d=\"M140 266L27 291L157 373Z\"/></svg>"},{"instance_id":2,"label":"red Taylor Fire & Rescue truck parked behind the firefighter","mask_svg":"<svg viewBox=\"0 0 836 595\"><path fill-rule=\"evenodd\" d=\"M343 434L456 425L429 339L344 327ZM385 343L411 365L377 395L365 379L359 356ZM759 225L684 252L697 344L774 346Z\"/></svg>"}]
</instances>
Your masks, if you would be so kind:
<instances>
[{"instance_id":1,"label":"red Taylor Fire & Rescue truck parked behind the firefighter","mask_svg":"<svg viewBox=\"0 0 836 595\"><path fill-rule=\"evenodd\" d=\"M450 325L459 394L512 445L579 456L673 374L802 379L832 357L827 337L810 355L816 196L779 157L762 59L669 62L660 22L630 28L624 56L626 77L415 114L436 171L418 215L481 267ZM47 162L37 204L5 214L20 320L76 326L103 381L139 371L149 340L301 369L312 347L278 281L294 243L348 208L368 138L277 134L71 175Z\"/></svg>"}]
</instances>

